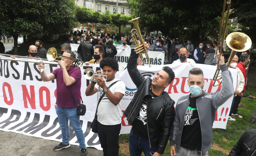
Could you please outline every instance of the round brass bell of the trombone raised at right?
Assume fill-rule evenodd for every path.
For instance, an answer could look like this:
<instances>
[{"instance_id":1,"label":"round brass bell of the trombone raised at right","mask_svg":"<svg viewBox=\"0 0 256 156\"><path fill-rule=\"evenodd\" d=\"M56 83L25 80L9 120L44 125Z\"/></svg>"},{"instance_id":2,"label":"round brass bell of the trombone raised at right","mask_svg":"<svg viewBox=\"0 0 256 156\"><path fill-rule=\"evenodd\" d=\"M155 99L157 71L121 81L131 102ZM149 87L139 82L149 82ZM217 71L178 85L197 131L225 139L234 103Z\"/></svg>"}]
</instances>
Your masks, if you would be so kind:
<instances>
[{"instance_id":1,"label":"round brass bell of the trombone raised at right","mask_svg":"<svg viewBox=\"0 0 256 156\"><path fill-rule=\"evenodd\" d=\"M227 46L236 52L244 52L252 46L250 37L241 32L233 32L226 38Z\"/></svg>"}]
</instances>

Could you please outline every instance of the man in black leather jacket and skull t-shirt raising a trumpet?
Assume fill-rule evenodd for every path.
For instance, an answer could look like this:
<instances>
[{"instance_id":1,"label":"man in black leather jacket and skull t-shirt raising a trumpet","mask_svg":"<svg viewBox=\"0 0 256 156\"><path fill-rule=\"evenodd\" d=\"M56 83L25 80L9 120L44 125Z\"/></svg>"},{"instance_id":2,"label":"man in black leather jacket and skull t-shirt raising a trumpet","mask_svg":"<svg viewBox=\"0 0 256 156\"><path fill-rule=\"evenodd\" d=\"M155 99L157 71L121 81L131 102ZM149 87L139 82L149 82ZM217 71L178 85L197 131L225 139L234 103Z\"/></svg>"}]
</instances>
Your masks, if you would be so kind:
<instances>
[{"instance_id":1,"label":"man in black leather jacket and skull t-shirt raising a trumpet","mask_svg":"<svg viewBox=\"0 0 256 156\"><path fill-rule=\"evenodd\" d=\"M143 77L137 69L138 55L131 50L127 70L138 90L124 111L133 127L129 136L130 155L160 156L164 153L174 118L174 101L166 87L174 79L174 72L163 67L152 79Z\"/></svg>"}]
</instances>

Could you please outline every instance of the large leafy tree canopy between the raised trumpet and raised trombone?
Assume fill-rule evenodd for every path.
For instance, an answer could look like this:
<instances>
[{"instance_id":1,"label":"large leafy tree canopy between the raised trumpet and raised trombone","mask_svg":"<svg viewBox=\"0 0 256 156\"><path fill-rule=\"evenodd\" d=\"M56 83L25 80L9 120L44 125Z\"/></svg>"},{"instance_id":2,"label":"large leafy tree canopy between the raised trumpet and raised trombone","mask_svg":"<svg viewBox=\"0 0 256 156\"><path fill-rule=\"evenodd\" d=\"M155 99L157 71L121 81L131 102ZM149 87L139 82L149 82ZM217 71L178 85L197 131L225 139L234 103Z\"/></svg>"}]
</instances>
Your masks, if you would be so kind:
<instances>
[{"instance_id":1,"label":"large leafy tree canopy between the raised trumpet and raised trombone","mask_svg":"<svg viewBox=\"0 0 256 156\"><path fill-rule=\"evenodd\" d=\"M200 32L216 27L214 19L222 13L223 0L130 0L129 8L133 15L141 17L140 26L160 30L172 38L190 30L187 37L191 37L193 43L198 45L201 41Z\"/></svg>"}]
</instances>

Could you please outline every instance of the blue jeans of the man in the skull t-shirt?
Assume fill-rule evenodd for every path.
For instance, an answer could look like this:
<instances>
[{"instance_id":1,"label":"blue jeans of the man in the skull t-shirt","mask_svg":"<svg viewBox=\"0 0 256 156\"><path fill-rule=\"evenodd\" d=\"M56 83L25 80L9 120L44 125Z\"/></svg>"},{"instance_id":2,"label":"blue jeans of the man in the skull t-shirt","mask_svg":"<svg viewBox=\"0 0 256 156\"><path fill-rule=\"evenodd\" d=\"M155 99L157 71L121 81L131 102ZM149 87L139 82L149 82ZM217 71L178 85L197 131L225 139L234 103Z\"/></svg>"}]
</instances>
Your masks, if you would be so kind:
<instances>
[{"instance_id":1,"label":"blue jeans of the man in the skull t-shirt","mask_svg":"<svg viewBox=\"0 0 256 156\"><path fill-rule=\"evenodd\" d=\"M129 136L129 151L132 156L141 156L143 151L145 156L152 156L157 151L158 146L150 148L149 141L136 135L131 129Z\"/></svg>"}]
</instances>

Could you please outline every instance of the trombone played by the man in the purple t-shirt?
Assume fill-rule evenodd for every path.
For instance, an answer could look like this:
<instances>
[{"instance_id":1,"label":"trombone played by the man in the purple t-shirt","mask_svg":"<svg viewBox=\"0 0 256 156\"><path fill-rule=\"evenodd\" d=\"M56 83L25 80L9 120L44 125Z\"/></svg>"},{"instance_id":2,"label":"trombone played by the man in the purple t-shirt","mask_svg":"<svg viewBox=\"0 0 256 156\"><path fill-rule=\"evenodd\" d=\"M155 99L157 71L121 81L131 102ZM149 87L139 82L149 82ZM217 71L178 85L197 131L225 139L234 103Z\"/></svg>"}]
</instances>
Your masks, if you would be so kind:
<instances>
[{"instance_id":1,"label":"trombone played by the man in the purple t-shirt","mask_svg":"<svg viewBox=\"0 0 256 156\"><path fill-rule=\"evenodd\" d=\"M17 58L26 58L26 59L34 59L35 60L35 61L17 60L17 61L20 61L20 62L32 62L32 63L37 63L37 62L42 63L42 62L39 62L39 61L59 62L58 60L55 60L55 59L56 58L66 58L66 59L76 60L75 64L70 65L70 66L81 67L84 63L82 60L66 57L66 56L63 56L63 55L58 55L56 49L53 48L53 47L48 49L47 54L46 54L47 59L33 58L33 57L27 57L27 56L18 56L18 55L8 55L8 54L0 54L0 56L1 55L2 56L14 56L14 57L17 57ZM14 59L3 59L3 58L0 58L0 60L14 61ZM55 63L48 63L48 62L43 62L43 63L44 64L55 64ZM57 64L57 65L59 65L59 64Z\"/></svg>"}]
</instances>

